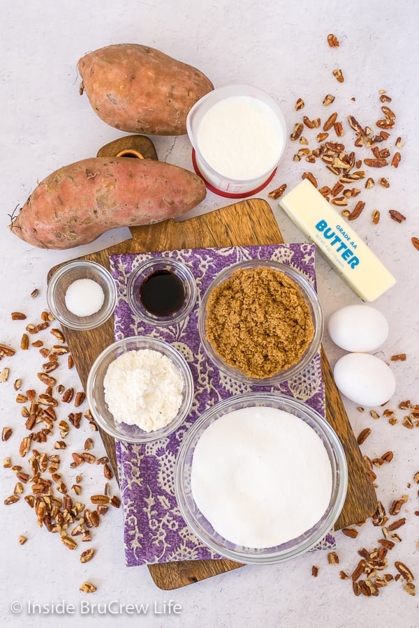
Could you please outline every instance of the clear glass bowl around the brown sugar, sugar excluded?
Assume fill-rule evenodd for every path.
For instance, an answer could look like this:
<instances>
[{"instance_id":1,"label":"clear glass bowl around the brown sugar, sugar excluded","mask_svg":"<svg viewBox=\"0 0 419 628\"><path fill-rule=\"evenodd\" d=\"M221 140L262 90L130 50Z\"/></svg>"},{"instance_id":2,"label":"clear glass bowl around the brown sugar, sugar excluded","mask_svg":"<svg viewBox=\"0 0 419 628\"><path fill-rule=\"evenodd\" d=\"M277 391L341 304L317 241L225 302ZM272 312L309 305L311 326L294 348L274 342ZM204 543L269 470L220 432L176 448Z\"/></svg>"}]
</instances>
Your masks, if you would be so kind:
<instances>
[{"instance_id":1,"label":"clear glass bowl around the brown sugar, sugar excluded","mask_svg":"<svg viewBox=\"0 0 419 628\"><path fill-rule=\"evenodd\" d=\"M214 290L215 287L221 285L221 283L230 278L230 276L237 270L254 269L259 267L267 267L276 271L281 271L281 273L284 273L288 278L294 281L297 287L300 288L302 296L304 297L304 301L306 301L307 306L309 306L311 319L313 320L314 324L314 336L311 340L311 343L309 344L309 347L307 347L307 349L300 357L300 360L290 366L290 368L286 368L283 371L278 371L270 377L249 377L238 368L227 364L216 352L205 333L207 320L207 303L208 299L210 298L210 294L212 293L212 290ZM220 371L222 371L229 377L232 377L234 380L244 382L251 386L274 386L276 384L284 382L285 380L289 380L291 379L291 377L297 375L297 373L300 373L300 371L302 371L307 366L307 364L310 363L311 359L313 359L314 355L321 345L321 339L323 338L323 325L323 311L321 309L316 290L314 290L309 281L298 271L289 267L287 264L275 262L274 260L246 260L245 262L238 262L237 264L233 264L223 269L214 278L210 286L207 288L205 294L203 295L203 299L201 301L198 311L198 331L200 335L200 341L203 344L207 356L210 358L213 364L217 368L219 368Z\"/></svg>"}]
</instances>

